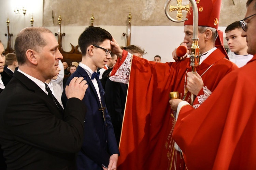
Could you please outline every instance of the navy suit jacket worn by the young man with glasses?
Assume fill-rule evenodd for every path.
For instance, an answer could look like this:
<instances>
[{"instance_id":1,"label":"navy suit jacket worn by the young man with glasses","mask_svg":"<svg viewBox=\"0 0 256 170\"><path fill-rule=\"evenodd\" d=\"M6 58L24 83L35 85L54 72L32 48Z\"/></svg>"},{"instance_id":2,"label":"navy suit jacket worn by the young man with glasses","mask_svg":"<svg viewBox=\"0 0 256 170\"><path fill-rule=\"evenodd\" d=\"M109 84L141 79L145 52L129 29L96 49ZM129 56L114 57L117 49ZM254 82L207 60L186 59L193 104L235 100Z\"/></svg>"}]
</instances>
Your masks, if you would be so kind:
<instances>
[{"instance_id":1,"label":"navy suit jacket worn by the young man with glasses","mask_svg":"<svg viewBox=\"0 0 256 170\"><path fill-rule=\"evenodd\" d=\"M110 116L108 110L105 109L105 121L103 120L102 111L99 110L101 108L99 97L87 72L78 66L76 71L69 77L66 85L70 83L73 77L84 77L89 86L83 99L87 106L87 114L85 116L84 141L77 157L77 169L102 170L101 165L108 166L110 155L119 154ZM97 82L102 105L106 107L104 101L105 92L99 79L97 79ZM61 99L65 108L67 101L65 90Z\"/></svg>"}]
</instances>

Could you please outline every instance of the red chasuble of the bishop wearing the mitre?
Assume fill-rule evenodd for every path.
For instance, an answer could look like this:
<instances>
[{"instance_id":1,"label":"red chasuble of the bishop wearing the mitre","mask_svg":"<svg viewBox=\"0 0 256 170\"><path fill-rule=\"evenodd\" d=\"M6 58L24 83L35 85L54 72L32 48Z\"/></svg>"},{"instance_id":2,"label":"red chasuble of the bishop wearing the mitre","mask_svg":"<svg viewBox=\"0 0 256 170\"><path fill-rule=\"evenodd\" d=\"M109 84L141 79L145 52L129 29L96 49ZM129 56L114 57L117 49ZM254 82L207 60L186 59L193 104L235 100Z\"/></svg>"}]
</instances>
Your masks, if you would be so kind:
<instances>
[{"instance_id":1,"label":"red chasuble of the bishop wearing the mitre","mask_svg":"<svg viewBox=\"0 0 256 170\"><path fill-rule=\"evenodd\" d=\"M126 56L127 51L124 51L112 75ZM202 76L204 86L211 91L227 73L238 68L224 57L217 48L197 68L199 75L205 72ZM184 169L183 157L173 146L174 118L171 117L169 92L179 91L183 96L185 74L190 71L189 59L156 63L133 56L119 145L119 170L179 169L180 166Z\"/></svg>"}]
</instances>

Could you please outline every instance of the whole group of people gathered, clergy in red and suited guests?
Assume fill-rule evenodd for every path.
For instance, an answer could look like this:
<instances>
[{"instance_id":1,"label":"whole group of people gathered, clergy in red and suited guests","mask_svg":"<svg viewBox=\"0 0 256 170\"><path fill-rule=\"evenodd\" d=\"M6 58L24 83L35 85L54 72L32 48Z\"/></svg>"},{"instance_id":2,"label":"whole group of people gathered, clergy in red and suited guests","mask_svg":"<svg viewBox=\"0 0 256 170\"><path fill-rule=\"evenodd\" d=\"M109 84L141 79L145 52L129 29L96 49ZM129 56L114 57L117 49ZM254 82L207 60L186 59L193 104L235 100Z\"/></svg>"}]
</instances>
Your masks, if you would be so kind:
<instances>
[{"instance_id":1,"label":"whole group of people gathered, clergy in red and suited guests","mask_svg":"<svg viewBox=\"0 0 256 170\"><path fill-rule=\"evenodd\" d=\"M47 28L21 30L6 56L0 41L0 169L255 169L256 0L225 30L229 56L221 0L197 5L196 74L192 13L187 53L168 63L94 26L78 39L80 63L65 62Z\"/></svg>"}]
</instances>

